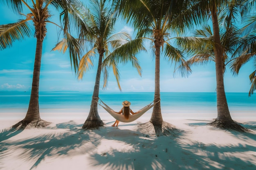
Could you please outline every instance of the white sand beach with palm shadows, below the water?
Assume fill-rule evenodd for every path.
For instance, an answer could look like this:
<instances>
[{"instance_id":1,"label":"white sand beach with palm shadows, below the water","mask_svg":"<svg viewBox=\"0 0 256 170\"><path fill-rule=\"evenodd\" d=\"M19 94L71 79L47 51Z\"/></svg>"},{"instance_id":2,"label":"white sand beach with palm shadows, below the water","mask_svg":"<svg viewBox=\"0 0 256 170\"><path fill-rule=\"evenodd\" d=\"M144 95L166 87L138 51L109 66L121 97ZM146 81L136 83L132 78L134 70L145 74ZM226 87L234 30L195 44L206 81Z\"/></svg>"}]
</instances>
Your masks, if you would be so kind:
<instances>
[{"instance_id":1,"label":"white sand beach with palm shadows, below the water","mask_svg":"<svg viewBox=\"0 0 256 170\"><path fill-rule=\"evenodd\" d=\"M172 111L173 112L173 111ZM213 128L217 113L163 114L164 121L182 132L150 136L137 131L151 111L137 121L111 125L108 113L99 113L106 124L99 130L82 130L87 113L41 111L51 121L47 128L9 132L25 114L1 114L1 170L255 170L256 115L231 113L251 131L242 133Z\"/></svg>"}]
</instances>

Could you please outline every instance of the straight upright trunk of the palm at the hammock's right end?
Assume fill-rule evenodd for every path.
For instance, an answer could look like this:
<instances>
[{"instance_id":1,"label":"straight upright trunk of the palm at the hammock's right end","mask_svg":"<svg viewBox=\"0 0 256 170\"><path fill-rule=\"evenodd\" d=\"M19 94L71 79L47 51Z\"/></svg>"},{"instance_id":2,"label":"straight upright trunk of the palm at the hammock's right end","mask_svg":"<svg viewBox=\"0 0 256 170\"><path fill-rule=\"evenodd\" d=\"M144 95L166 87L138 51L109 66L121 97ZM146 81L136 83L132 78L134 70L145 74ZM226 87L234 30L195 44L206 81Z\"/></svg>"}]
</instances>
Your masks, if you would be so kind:
<instances>
[{"instance_id":1,"label":"straight upright trunk of the palm at the hammock's right end","mask_svg":"<svg viewBox=\"0 0 256 170\"><path fill-rule=\"evenodd\" d=\"M160 100L160 46L155 44L155 95L153 112L150 121L154 125L161 125L163 123ZM158 102L158 103L156 103Z\"/></svg>"}]
</instances>

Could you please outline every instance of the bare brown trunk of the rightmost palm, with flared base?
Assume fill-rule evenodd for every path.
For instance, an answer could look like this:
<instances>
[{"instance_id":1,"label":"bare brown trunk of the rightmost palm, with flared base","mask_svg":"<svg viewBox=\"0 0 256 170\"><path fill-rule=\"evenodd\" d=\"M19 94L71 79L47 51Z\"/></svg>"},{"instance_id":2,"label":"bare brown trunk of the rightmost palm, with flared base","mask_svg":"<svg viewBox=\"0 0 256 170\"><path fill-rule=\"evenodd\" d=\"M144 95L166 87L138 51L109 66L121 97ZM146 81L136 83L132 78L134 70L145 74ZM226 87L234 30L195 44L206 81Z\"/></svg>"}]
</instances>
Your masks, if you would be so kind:
<instances>
[{"instance_id":1,"label":"bare brown trunk of the rightmost palm, with flared base","mask_svg":"<svg viewBox=\"0 0 256 170\"><path fill-rule=\"evenodd\" d=\"M216 92L217 92L217 112L218 117L211 124L219 128L234 129L244 131L245 128L235 123L229 113L227 104L224 78L223 78L223 62L222 62L222 46L220 42L220 33L217 20L216 10L213 8L211 11L212 23L213 23L213 39L215 42L214 55L215 55L215 66L216 66Z\"/></svg>"}]
</instances>

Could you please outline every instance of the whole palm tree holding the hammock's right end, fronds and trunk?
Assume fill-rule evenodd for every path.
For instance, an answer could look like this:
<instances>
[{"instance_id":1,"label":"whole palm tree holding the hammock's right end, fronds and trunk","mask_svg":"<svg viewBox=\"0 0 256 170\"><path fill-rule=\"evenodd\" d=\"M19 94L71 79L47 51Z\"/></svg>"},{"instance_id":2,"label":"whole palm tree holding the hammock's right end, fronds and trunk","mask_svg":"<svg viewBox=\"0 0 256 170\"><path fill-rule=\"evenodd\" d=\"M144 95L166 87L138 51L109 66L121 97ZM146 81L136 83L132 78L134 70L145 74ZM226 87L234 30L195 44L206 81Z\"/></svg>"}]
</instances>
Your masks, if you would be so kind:
<instances>
[{"instance_id":1,"label":"whole palm tree holding the hammock's right end, fronds and trunk","mask_svg":"<svg viewBox=\"0 0 256 170\"><path fill-rule=\"evenodd\" d=\"M184 1L177 0L125 0L116 1L121 15L132 23L137 30L137 38L150 40L155 52L155 94L154 107L150 121L141 125L141 129L151 131L156 135L168 135L175 130L163 121L160 104L160 54L168 62L180 63L183 71L190 71L182 52L171 45L173 33L182 33L192 20L186 20L183 8ZM186 22L185 22L186 20ZM182 69L181 69L182 70ZM182 72L184 73L184 72Z\"/></svg>"}]
</instances>

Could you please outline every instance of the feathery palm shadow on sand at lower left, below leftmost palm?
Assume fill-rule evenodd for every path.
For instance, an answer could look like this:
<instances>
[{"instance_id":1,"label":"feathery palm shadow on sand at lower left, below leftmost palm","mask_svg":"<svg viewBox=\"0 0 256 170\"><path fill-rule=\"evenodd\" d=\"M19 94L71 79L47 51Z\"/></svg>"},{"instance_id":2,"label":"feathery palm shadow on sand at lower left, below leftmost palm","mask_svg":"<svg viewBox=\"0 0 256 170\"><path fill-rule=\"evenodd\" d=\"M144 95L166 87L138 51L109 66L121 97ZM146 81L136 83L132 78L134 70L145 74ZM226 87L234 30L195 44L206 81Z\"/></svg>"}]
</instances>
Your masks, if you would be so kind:
<instances>
[{"instance_id":1,"label":"feathery palm shadow on sand at lower left, below leftmost palm","mask_svg":"<svg viewBox=\"0 0 256 170\"><path fill-rule=\"evenodd\" d=\"M74 151L77 154L84 154L90 151L90 147L83 148L83 150L76 150L83 144L89 141L88 134L84 134L84 130L81 130L82 125L77 125L73 121L56 124L54 128L49 129L49 133L39 137L32 137L21 141L6 142L4 146L8 148L22 148L24 151L17 155L17 157L24 160L24 162L33 162L30 169L36 168L40 162L46 157L67 155L68 152ZM65 129L65 132L63 132ZM52 130L56 130L52 133ZM4 151L3 150L3 151ZM4 159L4 153L0 155L1 160Z\"/></svg>"}]
</instances>

